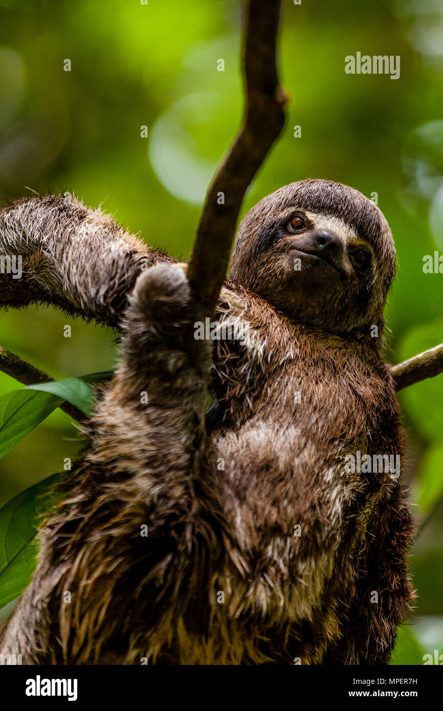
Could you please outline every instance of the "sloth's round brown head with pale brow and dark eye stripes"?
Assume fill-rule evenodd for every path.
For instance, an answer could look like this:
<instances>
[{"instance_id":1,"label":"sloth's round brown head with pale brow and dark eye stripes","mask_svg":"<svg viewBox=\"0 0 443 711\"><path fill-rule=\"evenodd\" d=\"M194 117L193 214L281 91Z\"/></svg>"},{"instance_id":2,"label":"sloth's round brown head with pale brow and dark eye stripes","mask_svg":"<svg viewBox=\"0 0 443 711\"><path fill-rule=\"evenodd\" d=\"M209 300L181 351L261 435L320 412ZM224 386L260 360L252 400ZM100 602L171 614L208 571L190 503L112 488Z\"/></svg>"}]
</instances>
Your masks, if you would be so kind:
<instances>
[{"instance_id":1,"label":"sloth's round brown head with pale brow and dark eye stripes","mask_svg":"<svg viewBox=\"0 0 443 711\"><path fill-rule=\"evenodd\" d=\"M255 205L237 232L230 270L289 318L340 332L383 326L394 277L383 213L327 180L291 183Z\"/></svg>"}]
</instances>

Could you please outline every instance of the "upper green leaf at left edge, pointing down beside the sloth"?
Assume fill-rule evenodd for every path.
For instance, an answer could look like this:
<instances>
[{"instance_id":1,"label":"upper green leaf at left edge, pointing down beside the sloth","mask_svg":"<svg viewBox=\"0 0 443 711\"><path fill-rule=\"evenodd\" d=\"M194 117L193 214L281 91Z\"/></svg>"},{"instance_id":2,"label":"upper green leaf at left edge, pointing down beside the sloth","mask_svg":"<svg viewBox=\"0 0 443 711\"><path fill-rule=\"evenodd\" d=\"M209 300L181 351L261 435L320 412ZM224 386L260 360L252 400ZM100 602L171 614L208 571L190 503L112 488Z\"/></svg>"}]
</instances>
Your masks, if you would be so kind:
<instances>
[{"instance_id":1,"label":"upper green leaf at left edge, pointing down beside the sloth","mask_svg":"<svg viewBox=\"0 0 443 711\"><path fill-rule=\"evenodd\" d=\"M24 387L0 397L0 459L46 419L63 400Z\"/></svg>"}]
</instances>

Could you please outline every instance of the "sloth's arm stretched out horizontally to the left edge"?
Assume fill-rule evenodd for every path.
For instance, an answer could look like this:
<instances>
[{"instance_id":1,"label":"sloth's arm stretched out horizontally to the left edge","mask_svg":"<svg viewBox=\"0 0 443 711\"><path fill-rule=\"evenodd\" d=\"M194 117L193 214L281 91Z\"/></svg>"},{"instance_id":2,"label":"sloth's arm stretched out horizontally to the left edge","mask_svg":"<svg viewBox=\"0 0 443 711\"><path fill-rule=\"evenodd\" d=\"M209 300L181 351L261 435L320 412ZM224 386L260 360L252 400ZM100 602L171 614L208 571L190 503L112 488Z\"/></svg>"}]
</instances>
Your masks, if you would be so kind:
<instances>
[{"instance_id":1,"label":"sloth's arm stretched out horizontally to the left edge","mask_svg":"<svg viewBox=\"0 0 443 711\"><path fill-rule=\"evenodd\" d=\"M52 304L118 327L142 270L175 262L70 196L23 198L0 210L0 255L21 256L23 276L0 274L0 306Z\"/></svg>"}]
</instances>

